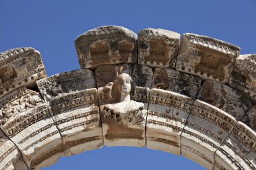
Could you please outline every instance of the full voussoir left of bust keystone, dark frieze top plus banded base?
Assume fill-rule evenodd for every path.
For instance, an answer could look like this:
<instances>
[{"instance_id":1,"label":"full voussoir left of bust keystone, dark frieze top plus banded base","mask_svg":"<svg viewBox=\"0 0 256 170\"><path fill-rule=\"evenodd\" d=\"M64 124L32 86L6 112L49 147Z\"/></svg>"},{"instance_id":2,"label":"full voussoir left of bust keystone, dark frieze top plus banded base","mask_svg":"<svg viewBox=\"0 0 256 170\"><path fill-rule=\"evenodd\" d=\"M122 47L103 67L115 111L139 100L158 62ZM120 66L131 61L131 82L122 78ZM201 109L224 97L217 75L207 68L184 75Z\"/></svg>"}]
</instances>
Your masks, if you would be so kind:
<instances>
[{"instance_id":1,"label":"full voussoir left of bust keystone, dark frieze top plus banded base","mask_svg":"<svg viewBox=\"0 0 256 170\"><path fill-rule=\"evenodd\" d=\"M36 81L48 101L65 155L102 146L98 93L93 71L81 69Z\"/></svg>"}]
</instances>

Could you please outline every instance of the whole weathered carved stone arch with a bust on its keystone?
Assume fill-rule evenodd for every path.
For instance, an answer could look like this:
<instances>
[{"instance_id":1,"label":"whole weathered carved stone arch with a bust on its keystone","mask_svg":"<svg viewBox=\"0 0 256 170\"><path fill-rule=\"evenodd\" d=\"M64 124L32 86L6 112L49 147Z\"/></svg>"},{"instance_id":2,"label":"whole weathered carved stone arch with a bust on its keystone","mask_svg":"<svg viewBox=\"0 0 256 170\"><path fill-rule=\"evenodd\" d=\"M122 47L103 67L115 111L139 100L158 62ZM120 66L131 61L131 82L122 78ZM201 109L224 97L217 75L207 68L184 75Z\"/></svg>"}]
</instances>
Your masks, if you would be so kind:
<instances>
[{"instance_id":1,"label":"whole weathered carved stone arch with a bust on its keystone","mask_svg":"<svg viewBox=\"0 0 256 170\"><path fill-rule=\"evenodd\" d=\"M182 153L206 169L256 169L255 54L179 37L96 28L75 40L81 69L51 77L33 48L1 52L0 169L40 169L103 145ZM98 45L100 55L86 56L100 41L111 55Z\"/></svg>"}]
</instances>

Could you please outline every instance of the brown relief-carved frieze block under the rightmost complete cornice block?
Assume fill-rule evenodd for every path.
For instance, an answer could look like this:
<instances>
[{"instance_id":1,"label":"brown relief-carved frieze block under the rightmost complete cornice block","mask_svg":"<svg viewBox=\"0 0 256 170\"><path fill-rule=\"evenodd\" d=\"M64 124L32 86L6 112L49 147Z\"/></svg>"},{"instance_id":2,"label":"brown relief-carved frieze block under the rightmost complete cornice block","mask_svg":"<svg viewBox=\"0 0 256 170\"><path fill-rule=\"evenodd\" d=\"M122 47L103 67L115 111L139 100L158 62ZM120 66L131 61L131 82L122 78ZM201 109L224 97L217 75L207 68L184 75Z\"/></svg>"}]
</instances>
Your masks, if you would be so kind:
<instances>
[{"instance_id":1,"label":"brown relief-carved frieze block under the rightmost complete cornice block","mask_svg":"<svg viewBox=\"0 0 256 170\"><path fill-rule=\"evenodd\" d=\"M236 120L240 120L253 107L240 91L211 80L203 82L197 99L224 110Z\"/></svg>"}]
</instances>

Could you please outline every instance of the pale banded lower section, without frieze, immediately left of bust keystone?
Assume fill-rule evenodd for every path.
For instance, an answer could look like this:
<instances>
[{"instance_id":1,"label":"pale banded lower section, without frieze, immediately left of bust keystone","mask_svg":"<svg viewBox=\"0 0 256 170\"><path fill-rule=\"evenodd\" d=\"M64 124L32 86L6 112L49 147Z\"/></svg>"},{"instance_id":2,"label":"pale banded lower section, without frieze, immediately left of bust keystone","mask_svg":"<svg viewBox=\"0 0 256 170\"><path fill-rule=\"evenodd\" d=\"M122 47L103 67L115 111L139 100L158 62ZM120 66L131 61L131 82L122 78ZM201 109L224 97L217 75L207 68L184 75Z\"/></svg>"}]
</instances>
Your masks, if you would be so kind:
<instances>
[{"instance_id":1,"label":"pale banded lower section, without frieze, immediately left of bust keystone","mask_svg":"<svg viewBox=\"0 0 256 170\"><path fill-rule=\"evenodd\" d=\"M49 105L66 156L102 147L97 89L72 92L53 99Z\"/></svg>"}]
</instances>

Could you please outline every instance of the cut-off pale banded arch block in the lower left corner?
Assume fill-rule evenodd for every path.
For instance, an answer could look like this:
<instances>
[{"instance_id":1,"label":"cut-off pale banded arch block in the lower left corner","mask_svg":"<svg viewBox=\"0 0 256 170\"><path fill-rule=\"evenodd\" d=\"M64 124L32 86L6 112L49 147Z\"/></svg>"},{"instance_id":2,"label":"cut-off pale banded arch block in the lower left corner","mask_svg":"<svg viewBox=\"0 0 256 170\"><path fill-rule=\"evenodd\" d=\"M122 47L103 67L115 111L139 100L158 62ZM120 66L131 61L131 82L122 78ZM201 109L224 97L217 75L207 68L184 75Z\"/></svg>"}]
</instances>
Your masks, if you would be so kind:
<instances>
[{"instance_id":1,"label":"cut-off pale banded arch block in the lower left corner","mask_svg":"<svg viewBox=\"0 0 256 170\"><path fill-rule=\"evenodd\" d=\"M0 169L27 170L17 146L0 130Z\"/></svg>"}]
</instances>

